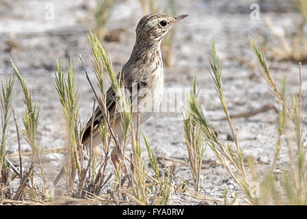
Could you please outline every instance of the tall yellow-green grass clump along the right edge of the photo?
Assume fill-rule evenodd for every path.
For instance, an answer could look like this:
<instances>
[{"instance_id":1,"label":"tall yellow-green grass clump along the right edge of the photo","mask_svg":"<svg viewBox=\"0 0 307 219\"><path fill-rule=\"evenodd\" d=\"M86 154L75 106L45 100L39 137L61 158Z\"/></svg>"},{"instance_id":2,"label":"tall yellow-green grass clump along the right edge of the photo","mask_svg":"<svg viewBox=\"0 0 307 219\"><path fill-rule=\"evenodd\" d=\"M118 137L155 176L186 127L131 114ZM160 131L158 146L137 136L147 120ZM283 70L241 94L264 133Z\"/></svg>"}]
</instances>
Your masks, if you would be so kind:
<instances>
[{"instance_id":1,"label":"tall yellow-green grass clump along the right edge of the photo","mask_svg":"<svg viewBox=\"0 0 307 219\"><path fill-rule=\"evenodd\" d=\"M306 205L306 149L304 149L304 139L302 138L302 64L299 63L298 94L286 98L285 82L282 83L281 91L278 84L271 82L273 81L273 75L267 68L263 50L253 40L251 40L251 45L262 68L262 75L280 103L282 110L280 110L278 116L278 136L284 133L286 138L283 141L278 138L277 144L280 147L280 142L284 142L289 155L289 168L285 168L282 171L282 182L279 186L278 182L273 180L272 171L269 172L269 177L267 178L270 183L264 184L262 187L263 190L267 191L267 197L261 201L266 204ZM291 99L292 101L289 102L286 99ZM278 148L277 152L279 150ZM276 157L278 157L278 154ZM276 157L273 160L273 165L275 165Z\"/></svg>"}]
</instances>

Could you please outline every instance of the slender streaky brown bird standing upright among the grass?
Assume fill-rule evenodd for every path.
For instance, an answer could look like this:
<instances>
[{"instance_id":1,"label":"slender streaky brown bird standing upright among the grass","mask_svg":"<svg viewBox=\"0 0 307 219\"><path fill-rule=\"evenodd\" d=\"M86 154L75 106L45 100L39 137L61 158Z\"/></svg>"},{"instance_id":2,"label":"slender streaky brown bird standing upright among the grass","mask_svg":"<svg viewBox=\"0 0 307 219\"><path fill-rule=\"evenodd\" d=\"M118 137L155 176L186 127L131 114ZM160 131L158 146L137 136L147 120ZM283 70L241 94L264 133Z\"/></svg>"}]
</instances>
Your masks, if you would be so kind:
<instances>
[{"instance_id":1,"label":"slender streaky brown bird standing upright among the grass","mask_svg":"<svg viewBox=\"0 0 307 219\"><path fill-rule=\"evenodd\" d=\"M147 110L140 110L139 106L160 105L163 97L164 75L163 75L163 62L161 55L161 42L166 34L172 29L172 27L186 18L187 14L181 14L178 16L172 16L169 14L146 14L143 16L139 23L137 23L136 38L133 50L129 57L129 60L124 64L120 73L118 73L118 79L126 90L130 91L130 100L133 103L137 103L138 112L132 112L133 125L139 123L145 123L150 116L152 116L152 108ZM133 89L137 89L137 93L133 96ZM144 94L140 94L141 90L147 90ZM131 92L132 91L132 92ZM134 100L134 101L133 101ZM118 142L122 144L124 140L124 131L122 130L122 117L118 112L116 104L116 93L113 88L109 88L106 92L106 107L109 115L110 123L114 124L112 130L114 131ZM145 111L145 112L144 112ZM139 114L139 120L137 120L136 114ZM94 116L94 118L93 118ZM92 117L88 120L87 125L83 131L82 144L85 146L90 145L91 127L94 123L94 129L92 131L92 147L96 147L101 142L101 136L99 133L99 125L104 120L104 114L101 112L101 108L98 106L94 111ZM111 162L114 167L120 162L118 150L114 146L111 151Z\"/></svg>"}]
</instances>

